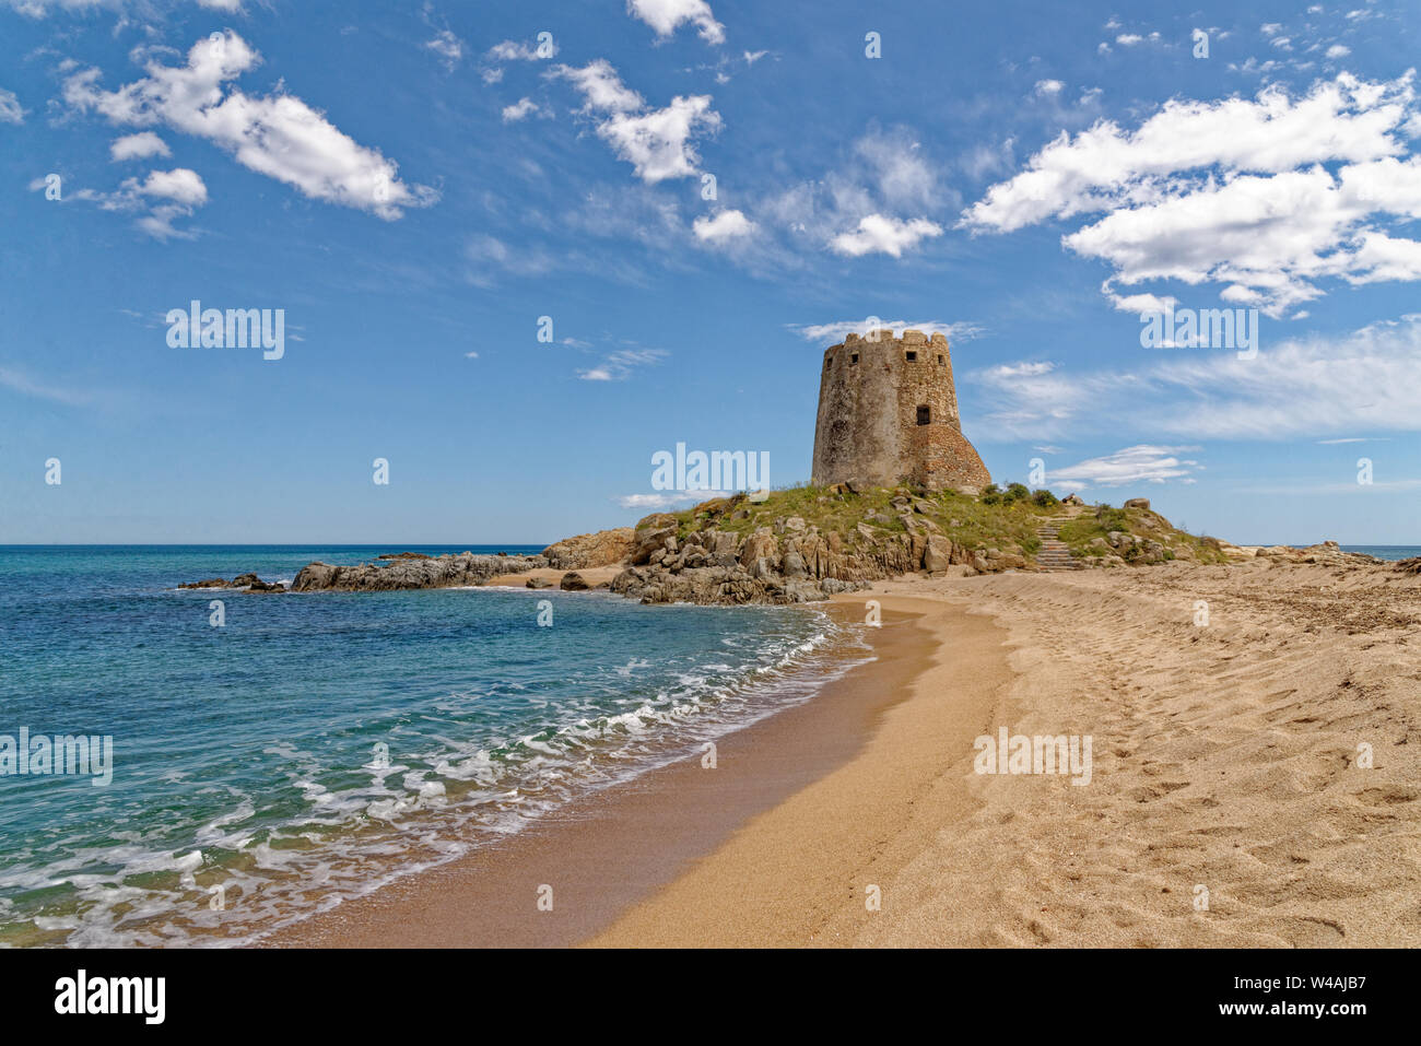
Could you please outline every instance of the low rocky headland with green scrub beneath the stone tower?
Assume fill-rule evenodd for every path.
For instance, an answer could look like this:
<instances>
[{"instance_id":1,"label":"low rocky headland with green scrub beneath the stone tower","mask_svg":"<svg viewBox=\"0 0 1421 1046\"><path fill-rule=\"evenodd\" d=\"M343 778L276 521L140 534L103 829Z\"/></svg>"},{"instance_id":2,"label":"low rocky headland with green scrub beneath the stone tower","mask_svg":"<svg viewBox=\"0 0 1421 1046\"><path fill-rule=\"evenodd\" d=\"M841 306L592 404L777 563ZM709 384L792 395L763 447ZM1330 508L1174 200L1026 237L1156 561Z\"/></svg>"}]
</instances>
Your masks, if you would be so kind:
<instances>
[{"instance_id":1,"label":"low rocky headland with green scrub beneath the stone tower","mask_svg":"<svg viewBox=\"0 0 1421 1046\"><path fill-rule=\"evenodd\" d=\"M604 588L642 603L789 604L918 573L972 577L1248 560L1380 563L1341 551L1336 541L1258 547L1189 534L1142 497L1115 509L1087 506L1074 496L1060 502L1019 483L980 493L836 483L742 493L684 512L652 513L634 527L564 539L539 556L406 551L357 566L310 563L290 588L256 574L180 587L314 593L526 583L563 591Z\"/></svg>"}]
</instances>

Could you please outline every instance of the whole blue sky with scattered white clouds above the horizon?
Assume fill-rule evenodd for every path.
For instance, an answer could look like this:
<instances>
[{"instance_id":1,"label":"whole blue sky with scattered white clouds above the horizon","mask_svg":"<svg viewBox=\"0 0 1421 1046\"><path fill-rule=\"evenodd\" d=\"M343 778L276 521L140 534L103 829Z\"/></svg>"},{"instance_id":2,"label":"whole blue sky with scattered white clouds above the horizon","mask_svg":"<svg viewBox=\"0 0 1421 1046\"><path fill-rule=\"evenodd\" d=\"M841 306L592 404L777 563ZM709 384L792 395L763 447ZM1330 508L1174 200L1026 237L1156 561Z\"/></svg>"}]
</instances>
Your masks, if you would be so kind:
<instances>
[{"instance_id":1,"label":"whole blue sky with scattered white clouds above the horizon","mask_svg":"<svg viewBox=\"0 0 1421 1046\"><path fill-rule=\"evenodd\" d=\"M0 0L0 543L536 543L678 442L807 479L868 317L948 333L1000 482L1421 540L1414 4L537 7ZM171 347L192 300L284 355ZM1141 347L1164 304L1259 351Z\"/></svg>"}]
</instances>

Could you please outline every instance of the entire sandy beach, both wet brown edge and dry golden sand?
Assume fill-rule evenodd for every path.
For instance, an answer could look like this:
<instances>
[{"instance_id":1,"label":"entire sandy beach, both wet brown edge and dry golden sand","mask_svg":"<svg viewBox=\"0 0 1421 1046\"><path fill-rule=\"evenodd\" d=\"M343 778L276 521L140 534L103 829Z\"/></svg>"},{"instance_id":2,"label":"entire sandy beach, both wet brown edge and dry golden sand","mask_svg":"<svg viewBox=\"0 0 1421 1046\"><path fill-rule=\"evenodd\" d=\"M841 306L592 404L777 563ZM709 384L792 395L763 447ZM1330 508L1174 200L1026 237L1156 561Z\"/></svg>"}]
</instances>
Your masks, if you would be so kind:
<instances>
[{"instance_id":1,"label":"entire sandy beach, both wet brown edge and dry golden sand","mask_svg":"<svg viewBox=\"0 0 1421 1046\"><path fill-rule=\"evenodd\" d=\"M877 661L718 769L662 767L270 942L1421 944L1417 577L905 577L837 613L870 598ZM976 773L1000 728L1091 738L1090 783Z\"/></svg>"}]
</instances>

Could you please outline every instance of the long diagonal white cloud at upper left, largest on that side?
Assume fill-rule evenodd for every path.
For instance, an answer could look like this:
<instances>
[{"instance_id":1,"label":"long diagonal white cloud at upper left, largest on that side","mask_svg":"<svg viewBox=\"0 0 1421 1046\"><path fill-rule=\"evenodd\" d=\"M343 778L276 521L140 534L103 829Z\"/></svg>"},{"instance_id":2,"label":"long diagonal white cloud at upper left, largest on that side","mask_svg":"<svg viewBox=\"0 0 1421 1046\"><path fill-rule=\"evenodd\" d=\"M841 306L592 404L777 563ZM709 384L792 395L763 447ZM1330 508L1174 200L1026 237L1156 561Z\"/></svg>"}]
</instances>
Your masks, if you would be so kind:
<instances>
[{"instance_id":1,"label":"long diagonal white cloud at upper left, largest on that side","mask_svg":"<svg viewBox=\"0 0 1421 1046\"><path fill-rule=\"evenodd\" d=\"M98 87L97 68L77 72L64 81L64 98L72 108L92 109L111 124L162 124L206 138L243 166L313 199L369 210L387 220L399 217L404 207L438 199L428 186L401 182L394 161L358 145L300 98L257 98L237 88L225 92L226 81L259 63L260 55L227 30L193 44L186 65L152 61L145 78L117 91Z\"/></svg>"}]
</instances>

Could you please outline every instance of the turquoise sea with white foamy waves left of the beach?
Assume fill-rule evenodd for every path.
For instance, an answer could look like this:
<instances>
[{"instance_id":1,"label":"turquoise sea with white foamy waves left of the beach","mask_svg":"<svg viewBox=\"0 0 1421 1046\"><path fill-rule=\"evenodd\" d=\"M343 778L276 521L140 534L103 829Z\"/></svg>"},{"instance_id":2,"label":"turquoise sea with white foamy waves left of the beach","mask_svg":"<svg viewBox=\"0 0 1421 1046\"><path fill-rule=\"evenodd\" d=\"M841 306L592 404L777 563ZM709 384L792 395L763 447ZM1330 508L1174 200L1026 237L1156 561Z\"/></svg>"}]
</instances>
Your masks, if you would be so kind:
<instances>
[{"instance_id":1,"label":"turquoise sea with white foamy waves left of the beach","mask_svg":"<svg viewBox=\"0 0 1421 1046\"><path fill-rule=\"evenodd\" d=\"M691 755L865 655L809 608L175 590L382 551L0 547L0 735L114 753L98 787L0 776L0 944L252 939Z\"/></svg>"}]
</instances>

